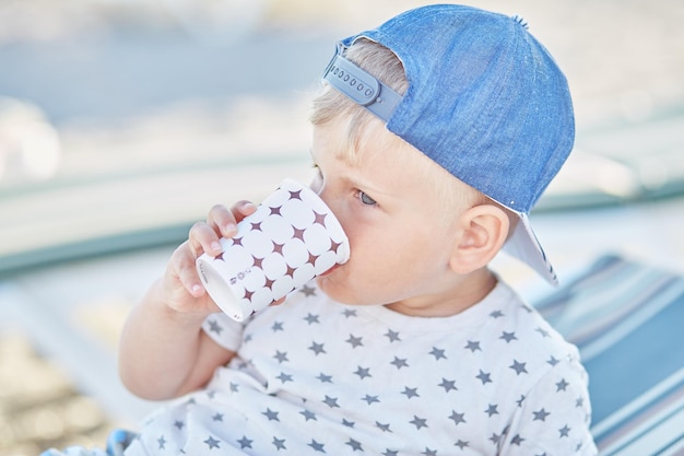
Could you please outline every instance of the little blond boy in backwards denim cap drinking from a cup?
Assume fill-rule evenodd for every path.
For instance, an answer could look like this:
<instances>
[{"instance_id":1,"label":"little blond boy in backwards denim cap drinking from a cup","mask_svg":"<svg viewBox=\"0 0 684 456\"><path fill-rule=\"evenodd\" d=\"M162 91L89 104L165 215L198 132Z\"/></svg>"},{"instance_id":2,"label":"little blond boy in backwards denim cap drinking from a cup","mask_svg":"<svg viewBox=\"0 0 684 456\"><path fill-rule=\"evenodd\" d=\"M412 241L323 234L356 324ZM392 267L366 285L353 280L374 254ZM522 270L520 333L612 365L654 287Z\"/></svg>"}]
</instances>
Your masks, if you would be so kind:
<instances>
[{"instance_id":1,"label":"little blond boy in backwards denim cap drinking from a cup","mask_svg":"<svg viewBox=\"0 0 684 456\"><path fill-rule=\"evenodd\" d=\"M238 324L194 260L255 207L214 207L125 327L125 384L180 397L125 454L595 454L577 350L487 269L506 247L555 283L527 217L574 140L547 51L432 5L340 43L323 79L311 187L350 260Z\"/></svg>"}]
</instances>

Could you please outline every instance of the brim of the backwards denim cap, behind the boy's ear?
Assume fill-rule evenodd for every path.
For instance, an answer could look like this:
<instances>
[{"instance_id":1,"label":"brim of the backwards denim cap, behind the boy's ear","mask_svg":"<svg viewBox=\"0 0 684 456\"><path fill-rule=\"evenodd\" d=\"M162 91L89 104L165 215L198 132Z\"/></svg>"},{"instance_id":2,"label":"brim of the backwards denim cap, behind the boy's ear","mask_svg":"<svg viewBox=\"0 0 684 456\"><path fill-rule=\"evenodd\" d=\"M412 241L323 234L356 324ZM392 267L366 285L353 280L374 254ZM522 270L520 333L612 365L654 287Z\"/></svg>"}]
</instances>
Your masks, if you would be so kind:
<instances>
[{"instance_id":1,"label":"brim of the backwards denim cap, behind the boy's ear","mask_svg":"<svg viewBox=\"0 0 684 456\"><path fill-rule=\"evenodd\" d=\"M536 239L526 213L516 212L520 219L512 235L504 245L504 250L523 261L551 284L558 285L558 278L546 254Z\"/></svg>"}]
</instances>

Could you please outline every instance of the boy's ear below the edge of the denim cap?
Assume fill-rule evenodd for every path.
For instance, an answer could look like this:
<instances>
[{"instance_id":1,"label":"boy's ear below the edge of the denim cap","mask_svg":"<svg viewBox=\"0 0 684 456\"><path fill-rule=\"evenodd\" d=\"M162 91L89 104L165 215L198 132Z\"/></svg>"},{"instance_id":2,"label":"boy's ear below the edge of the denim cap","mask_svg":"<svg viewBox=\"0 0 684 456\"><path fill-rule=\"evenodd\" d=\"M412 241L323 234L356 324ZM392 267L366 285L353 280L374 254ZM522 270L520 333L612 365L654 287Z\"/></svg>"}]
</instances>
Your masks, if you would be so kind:
<instances>
[{"instance_id":1,"label":"boy's ear below the edge of the denim cap","mask_svg":"<svg viewBox=\"0 0 684 456\"><path fill-rule=\"evenodd\" d=\"M461 213L449 261L451 270L465 274L485 267L506 243L509 227L508 214L496 204L480 204Z\"/></svg>"}]
</instances>

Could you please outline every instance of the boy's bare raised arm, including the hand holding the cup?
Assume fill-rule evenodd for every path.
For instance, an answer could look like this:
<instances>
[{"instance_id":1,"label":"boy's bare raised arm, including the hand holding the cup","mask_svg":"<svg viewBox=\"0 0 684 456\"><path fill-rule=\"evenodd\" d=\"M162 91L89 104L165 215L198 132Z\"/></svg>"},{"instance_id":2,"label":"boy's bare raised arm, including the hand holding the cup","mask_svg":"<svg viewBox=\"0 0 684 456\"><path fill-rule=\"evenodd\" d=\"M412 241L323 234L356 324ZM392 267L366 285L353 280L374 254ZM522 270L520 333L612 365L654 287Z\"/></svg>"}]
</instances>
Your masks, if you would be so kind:
<instances>
[{"instance_id":1,"label":"boy's bare raised arm, including the hand holding the cup","mask_svg":"<svg viewBox=\"0 0 684 456\"><path fill-rule=\"evenodd\" d=\"M198 222L189 238L173 254L157 280L131 312L119 346L119 373L131 393L145 399L169 399L197 389L214 370L235 354L220 347L201 326L220 312L209 297L194 267L204 252L221 253L219 239L237 232L236 223L253 212L248 202L212 208L207 222Z\"/></svg>"}]
</instances>

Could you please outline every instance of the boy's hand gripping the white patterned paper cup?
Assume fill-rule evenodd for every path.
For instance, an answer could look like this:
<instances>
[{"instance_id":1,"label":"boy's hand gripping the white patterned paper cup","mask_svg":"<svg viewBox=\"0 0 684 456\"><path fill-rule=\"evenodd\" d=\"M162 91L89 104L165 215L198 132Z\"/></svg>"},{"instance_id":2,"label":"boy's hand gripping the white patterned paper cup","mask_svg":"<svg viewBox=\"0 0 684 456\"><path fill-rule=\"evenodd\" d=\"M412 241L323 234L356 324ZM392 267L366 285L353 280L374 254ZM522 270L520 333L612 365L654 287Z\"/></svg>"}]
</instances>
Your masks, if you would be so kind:
<instances>
[{"instance_id":1,"label":"boy's hand gripping the white patterned paper cup","mask_svg":"<svg viewBox=\"0 0 684 456\"><path fill-rule=\"evenodd\" d=\"M239 201L231 210L216 204L209 212L205 222L192 225L188 241L174 252L164 274L163 292L167 306L179 313L220 312L207 294L194 261L203 253L212 256L221 254L223 249L220 238L237 234L237 222L256 210L257 207L248 201Z\"/></svg>"}]
</instances>

